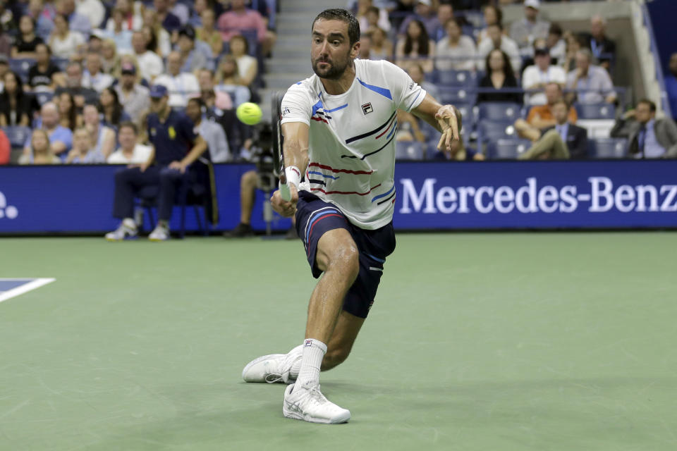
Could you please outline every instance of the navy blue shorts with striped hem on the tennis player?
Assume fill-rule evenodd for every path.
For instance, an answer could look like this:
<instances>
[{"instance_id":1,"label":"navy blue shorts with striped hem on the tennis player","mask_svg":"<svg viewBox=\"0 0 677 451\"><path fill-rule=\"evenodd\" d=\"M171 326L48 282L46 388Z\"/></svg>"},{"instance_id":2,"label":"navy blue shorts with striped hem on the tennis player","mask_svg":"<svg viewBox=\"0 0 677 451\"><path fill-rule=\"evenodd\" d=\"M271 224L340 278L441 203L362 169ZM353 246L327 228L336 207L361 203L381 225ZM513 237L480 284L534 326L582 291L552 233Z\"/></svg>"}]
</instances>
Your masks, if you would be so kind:
<instances>
[{"instance_id":1,"label":"navy blue shorts with striped hem on the tennis player","mask_svg":"<svg viewBox=\"0 0 677 451\"><path fill-rule=\"evenodd\" d=\"M336 206L322 201L315 194L300 191L296 204L296 233L303 240L305 254L315 278L322 274L315 261L317 242L324 233L336 228L348 230L360 252L360 273L343 300L343 310L360 318L367 318L379 288L383 264L386 257L395 250L393 223L376 230L353 226Z\"/></svg>"}]
</instances>

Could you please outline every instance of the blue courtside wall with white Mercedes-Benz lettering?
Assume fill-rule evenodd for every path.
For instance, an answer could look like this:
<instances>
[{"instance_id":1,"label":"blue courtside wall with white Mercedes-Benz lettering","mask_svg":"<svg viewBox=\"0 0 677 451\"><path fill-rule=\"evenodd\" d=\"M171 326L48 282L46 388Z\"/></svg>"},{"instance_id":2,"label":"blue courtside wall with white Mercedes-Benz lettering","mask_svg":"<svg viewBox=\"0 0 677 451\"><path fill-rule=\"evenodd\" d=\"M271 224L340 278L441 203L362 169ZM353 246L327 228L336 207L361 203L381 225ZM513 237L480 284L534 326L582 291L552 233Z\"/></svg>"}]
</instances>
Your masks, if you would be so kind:
<instances>
[{"instance_id":1,"label":"blue courtside wall with white Mercedes-Benz lettering","mask_svg":"<svg viewBox=\"0 0 677 451\"><path fill-rule=\"evenodd\" d=\"M249 164L216 165L220 221L235 227L240 176ZM119 166L0 167L0 233L104 233ZM252 217L265 228L264 196ZM378 200L376 201L378 202ZM172 228L178 228L175 209ZM187 214L189 230L197 223ZM677 161L397 163L399 230L677 228ZM290 221L276 216L274 230Z\"/></svg>"}]
</instances>

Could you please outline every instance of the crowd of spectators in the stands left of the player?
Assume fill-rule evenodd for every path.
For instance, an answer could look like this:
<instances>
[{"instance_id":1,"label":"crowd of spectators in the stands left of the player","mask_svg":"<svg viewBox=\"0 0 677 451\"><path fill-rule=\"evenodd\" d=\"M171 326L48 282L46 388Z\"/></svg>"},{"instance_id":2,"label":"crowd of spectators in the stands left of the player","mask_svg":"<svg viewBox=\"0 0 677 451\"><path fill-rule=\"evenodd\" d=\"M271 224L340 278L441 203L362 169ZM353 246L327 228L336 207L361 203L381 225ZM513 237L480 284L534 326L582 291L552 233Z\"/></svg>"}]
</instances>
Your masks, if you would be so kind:
<instances>
[{"instance_id":1,"label":"crowd of spectators in the stands left of the player","mask_svg":"<svg viewBox=\"0 0 677 451\"><path fill-rule=\"evenodd\" d=\"M23 164L148 156L154 85L211 140L212 161L236 160L250 130L234 109L260 98L274 8L270 0L0 0L0 164L8 142L22 148ZM190 99L202 102L193 114Z\"/></svg>"}]
</instances>

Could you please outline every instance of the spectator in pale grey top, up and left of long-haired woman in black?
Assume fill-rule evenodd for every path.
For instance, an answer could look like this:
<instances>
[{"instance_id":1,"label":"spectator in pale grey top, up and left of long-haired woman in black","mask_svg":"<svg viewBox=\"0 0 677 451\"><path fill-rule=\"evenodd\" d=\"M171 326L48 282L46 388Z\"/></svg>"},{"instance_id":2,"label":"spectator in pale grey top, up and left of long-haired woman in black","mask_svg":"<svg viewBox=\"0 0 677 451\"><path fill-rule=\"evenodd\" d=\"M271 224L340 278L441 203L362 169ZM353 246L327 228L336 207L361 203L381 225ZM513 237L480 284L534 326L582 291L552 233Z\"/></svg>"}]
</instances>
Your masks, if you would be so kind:
<instances>
[{"instance_id":1,"label":"spectator in pale grey top, up and left of long-haired woman in black","mask_svg":"<svg viewBox=\"0 0 677 451\"><path fill-rule=\"evenodd\" d=\"M477 48L471 37L464 36L458 20L445 24L446 38L437 42L435 68L437 70L475 70Z\"/></svg>"}]
</instances>

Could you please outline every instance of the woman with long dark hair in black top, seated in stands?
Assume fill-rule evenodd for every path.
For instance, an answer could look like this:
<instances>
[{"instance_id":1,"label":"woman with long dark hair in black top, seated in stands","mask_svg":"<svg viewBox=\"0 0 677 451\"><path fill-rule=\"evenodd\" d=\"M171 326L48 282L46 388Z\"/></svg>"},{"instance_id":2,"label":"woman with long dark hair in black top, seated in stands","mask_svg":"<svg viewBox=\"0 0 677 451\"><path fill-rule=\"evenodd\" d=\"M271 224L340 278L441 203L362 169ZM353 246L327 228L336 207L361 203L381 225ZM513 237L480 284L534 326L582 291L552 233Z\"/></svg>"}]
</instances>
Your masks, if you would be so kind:
<instances>
[{"instance_id":1,"label":"woman with long dark hair in black top, seated in stands","mask_svg":"<svg viewBox=\"0 0 677 451\"><path fill-rule=\"evenodd\" d=\"M492 25L494 27L494 25ZM511 101L522 102L522 95L518 92L501 92L504 88L517 88L517 78L513 72L510 60L506 52L501 49L489 51L484 58L482 66L487 68L487 73L480 80L478 87L484 92L477 94L477 103L485 101Z\"/></svg>"}]
</instances>

